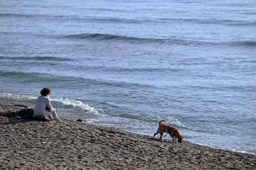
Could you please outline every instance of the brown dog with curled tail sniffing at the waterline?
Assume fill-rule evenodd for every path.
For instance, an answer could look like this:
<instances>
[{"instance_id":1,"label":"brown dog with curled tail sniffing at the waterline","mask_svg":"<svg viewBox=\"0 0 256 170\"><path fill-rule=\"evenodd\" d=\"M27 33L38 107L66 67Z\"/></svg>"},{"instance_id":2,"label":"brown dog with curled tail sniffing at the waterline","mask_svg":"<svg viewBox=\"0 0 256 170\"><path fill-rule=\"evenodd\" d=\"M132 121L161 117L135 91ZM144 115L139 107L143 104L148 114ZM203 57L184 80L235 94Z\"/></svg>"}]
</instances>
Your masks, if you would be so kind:
<instances>
[{"instance_id":1,"label":"brown dog with curled tail sniffing at the waterline","mask_svg":"<svg viewBox=\"0 0 256 170\"><path fill-rule=\"evenodd\" d=\"M154 134L154 137L158 133L160 133L160 140L163 141L162 136L163 136L164 132L166 132L166 133L169 133L169 135L172 137L172 139L173 139L172 141L175 141L175 143L177 143L177 139L178 139L178 142L181 143L181 141L183 139L183 135L180 133L180 131L176 127L172 127L171 125L167 125L167 124L161 125L162 121L167 123L167 121L164 119L159 121L159 127L158 127L156 133ZM154 137L153 137L153 139L154 139Z\"/></svg>"}]
</instances>

